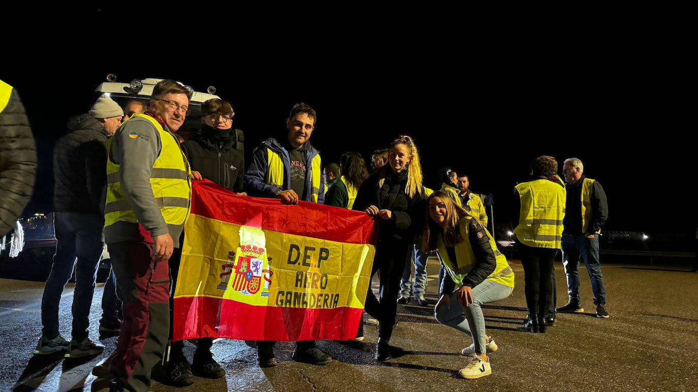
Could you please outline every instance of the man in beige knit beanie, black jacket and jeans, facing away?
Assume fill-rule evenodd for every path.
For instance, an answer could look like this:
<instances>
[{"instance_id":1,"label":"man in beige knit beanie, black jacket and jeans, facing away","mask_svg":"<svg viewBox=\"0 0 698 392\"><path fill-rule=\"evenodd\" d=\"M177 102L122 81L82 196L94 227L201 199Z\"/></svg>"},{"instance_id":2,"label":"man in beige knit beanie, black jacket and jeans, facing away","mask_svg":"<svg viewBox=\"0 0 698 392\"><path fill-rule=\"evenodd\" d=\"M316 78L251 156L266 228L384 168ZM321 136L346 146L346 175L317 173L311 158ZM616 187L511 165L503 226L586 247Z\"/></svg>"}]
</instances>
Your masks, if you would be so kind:
<instances>
[{"instance_id":1,"label":"man in beige knit beanie, black jacket and jeans, facing away","mask_svg":"<svg viewBox=\"0 0 698 392\"><path fill-rule=\"evenodd\" d=\"M88 337L89 311L99 258L104 248L107 137L121 125L124 111L110 97L100 97L89 111L70 119L70 133L54 150L54 225L58 241L41 300L42 336L34 354L67 350L66 358L100 354L104 347ZM61 293L75 266L73 339L58 331Z\"/></svg>"}]
</instances>

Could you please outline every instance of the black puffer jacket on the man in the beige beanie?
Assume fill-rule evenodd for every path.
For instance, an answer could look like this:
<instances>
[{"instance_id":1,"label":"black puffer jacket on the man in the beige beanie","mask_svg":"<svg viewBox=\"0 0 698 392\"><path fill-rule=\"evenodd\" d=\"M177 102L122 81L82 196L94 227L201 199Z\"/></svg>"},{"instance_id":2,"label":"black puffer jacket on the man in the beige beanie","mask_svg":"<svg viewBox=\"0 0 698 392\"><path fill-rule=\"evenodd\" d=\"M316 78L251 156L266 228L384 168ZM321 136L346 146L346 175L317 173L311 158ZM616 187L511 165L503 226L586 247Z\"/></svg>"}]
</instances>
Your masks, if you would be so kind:
<instances>
[{"instance_id":1,"label":"black puffer jacket on the man in the beige beanie","mask_svg":"<svg viewBox=\"0 0 698 392\"><path fill-rule=\"evenodd\" d=\"M104 214L107 190L107 132L89 114L68 120L53 154L53 210Z\"/></svg>"}]
</instances>

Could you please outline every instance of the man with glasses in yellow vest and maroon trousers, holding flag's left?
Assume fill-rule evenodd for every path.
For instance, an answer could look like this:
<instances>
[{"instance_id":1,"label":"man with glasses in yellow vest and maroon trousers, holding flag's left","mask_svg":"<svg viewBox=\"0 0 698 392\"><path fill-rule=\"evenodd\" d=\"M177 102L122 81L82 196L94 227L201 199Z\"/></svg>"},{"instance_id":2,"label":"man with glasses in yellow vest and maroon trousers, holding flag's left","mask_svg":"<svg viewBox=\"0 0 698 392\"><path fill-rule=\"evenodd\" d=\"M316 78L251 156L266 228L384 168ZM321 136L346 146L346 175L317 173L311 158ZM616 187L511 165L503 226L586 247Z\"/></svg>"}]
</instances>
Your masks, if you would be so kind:
<instances>
[{"instance_id":1,"label":"man with glasses in yellow vest and maroon trousers, holding flag's left","mask_svg":"<svg viewBox=\"0 0 698 392\"><path fill-rule=\"evenodd\" d=\"M176 81L158 82L149 110L107 141L104 235L124 301L112 390L147 391L168 343L168 261L191 197L189 165L172 132L184 124L189 97Z\"/></svg>"}]
</instances>

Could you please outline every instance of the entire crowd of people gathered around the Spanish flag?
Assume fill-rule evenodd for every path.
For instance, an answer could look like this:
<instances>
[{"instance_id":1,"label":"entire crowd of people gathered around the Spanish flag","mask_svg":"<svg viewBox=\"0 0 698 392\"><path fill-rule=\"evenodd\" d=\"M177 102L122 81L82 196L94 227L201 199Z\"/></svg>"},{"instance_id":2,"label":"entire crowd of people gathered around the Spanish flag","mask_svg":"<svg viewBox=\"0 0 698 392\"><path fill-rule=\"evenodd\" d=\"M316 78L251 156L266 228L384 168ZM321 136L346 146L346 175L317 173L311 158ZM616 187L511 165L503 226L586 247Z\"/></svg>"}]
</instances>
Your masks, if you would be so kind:
<instances>
[{"instance_id":1,"label":"entire crowd of people gathered around the Spanish flag","mask_svg":"<svg viewBox=\"0 0 698 392\"><path fill-rule=\"evenodd\" d=\"M147 101L120 107L103 96L88 113L68 123L69 133L54 150L58 243L43 295L43 330L35 354L64 352L74 358L103 352L103 345L89 338L88 319L106 244L112 271L99 331L118 334L119 343L93 373L114 377L115 391L147 390L151 372L158 367L178 386L193 384L194 375L225 375L211 352L211 339L197 341L191 364L184 356L184 342L171 342L172 293L191 182L205 178L238 196L278 198L285 205L324 203L364 212L379 222L371 276L378 273L380 294L376 297L369 289L365 301L368 323L378 325L378 361L392 356L389 342L398 304L414 298L419 306L431 305L424 297L426 261L435 255L440 274L434 317L472 338L461 350L471 361L459 374L466 379L491 374L488 353L498 346L487 334L481 306L512 294L514 270L487 229L482 197L470 190L468 175L445 168L440 189L425 187L420 152L407 135L373 152L370 174L359 152L345 152L339 164L323 164L311 145L318 113L307 104L292 107L285 128L257 146L246 165L242 131L232 127L235 111L230 102L204 102L200 130L186 141L177 135L190 100L191 93L181 84L163 80ZM528 317L523 322L531 332L544 333L554 325L557 312L584 312L580 263L591 279L596 315L609 317L598 247L607 219L606 196L599 182L584 176L577 158L564 161L563 175L564 181L554 157L537 157L530 163L530 178L512 189L512 203L517 205L512 227L526 283ZM558 250L563 253L569 296L560 308L553 266ZM59 334L58 313L73 268L68 340ZM354 340L364 339L363 330L362 322ZM247 343L256 348L259 366L276 366L275 342ZM318 366L332 361L313 341L296 342L292 358Z\"/></svg>"}]
</instances>

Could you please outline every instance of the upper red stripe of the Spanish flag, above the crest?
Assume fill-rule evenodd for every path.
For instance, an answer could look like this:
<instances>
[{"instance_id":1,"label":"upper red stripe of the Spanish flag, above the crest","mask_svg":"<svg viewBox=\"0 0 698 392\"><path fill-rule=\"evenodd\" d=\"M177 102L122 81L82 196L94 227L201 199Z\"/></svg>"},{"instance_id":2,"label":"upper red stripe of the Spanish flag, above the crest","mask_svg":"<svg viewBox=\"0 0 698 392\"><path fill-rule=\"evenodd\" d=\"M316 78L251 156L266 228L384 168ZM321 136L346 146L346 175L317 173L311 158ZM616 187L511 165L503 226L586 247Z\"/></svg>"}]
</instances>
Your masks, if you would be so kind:
<instances>
[{"instance_id":1,"label":"upper red stripe of the Spanish flag, above the crest","mask_svg":"<svg viewBox=\"0 0 698 392\"><path fill-rule=\"evenodd\" d=\"M276 198L239 197L208 180L193 181L192 189L191 213L202 217L320 240L376 244L378 224L364 212L306 201L282 205Z\"/></svg>"}]
</instances>

